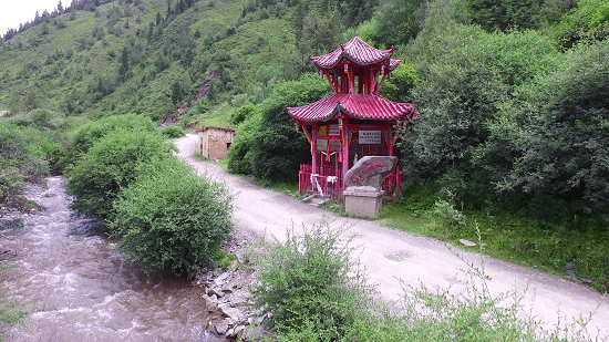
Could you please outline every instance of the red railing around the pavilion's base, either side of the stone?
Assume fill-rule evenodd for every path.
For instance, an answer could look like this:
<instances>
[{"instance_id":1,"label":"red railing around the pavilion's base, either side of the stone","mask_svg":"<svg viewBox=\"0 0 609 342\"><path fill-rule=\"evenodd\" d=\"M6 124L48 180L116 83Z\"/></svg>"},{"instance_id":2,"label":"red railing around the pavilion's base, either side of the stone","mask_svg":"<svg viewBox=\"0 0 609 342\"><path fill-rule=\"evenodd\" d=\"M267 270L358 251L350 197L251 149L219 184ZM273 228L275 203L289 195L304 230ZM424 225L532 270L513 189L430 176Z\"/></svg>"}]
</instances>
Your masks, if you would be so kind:
<instances>
[{"instance_id":1,"label":"red railing around the pavilion's base, either side of the stone","mask_svg":"<svg viewBox=\"0 0 609 342\"><path fill-rule=\"evenodd\" d=\"M329 167L316 167L313 173L311 164L300 164L298 174L298 188L300 194L314 193L328 195L342 200L342 170ZM402 167L398 166L394 173L386 175L383 180L385 196L393 198L402 188Z\"/></svg>"}]
</instances>

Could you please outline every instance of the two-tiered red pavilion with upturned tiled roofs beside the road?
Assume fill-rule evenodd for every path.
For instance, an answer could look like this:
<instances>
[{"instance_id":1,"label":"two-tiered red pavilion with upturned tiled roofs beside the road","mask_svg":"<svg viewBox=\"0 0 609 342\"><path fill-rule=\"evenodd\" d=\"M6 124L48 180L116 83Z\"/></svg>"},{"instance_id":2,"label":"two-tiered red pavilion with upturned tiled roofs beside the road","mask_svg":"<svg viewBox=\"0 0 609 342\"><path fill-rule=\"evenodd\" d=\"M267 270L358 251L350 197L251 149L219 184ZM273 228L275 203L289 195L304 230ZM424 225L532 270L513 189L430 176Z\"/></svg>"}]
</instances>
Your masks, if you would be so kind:
<instances>
[{"instance_id":1,"label":"two-tiered red pavilion with upturned tiled roofs beside the road","mask_svg":"<svg viewBox=\"0 0 609 342\"><path fill-rule=\"evenodd\" d=\"M410 103L379 94L385 79L402 60L390 50L378 50L357 35L333 52L310 58L334 93L301 107L287 107L296 128L302 127L311 144L311 164L301 164L300 193L311 191L342 199L343 176L363 156L393 156L396 127L416 121ZM399 193L401 168L383 183L385 195Z\"/></svg>"}]
</instances>

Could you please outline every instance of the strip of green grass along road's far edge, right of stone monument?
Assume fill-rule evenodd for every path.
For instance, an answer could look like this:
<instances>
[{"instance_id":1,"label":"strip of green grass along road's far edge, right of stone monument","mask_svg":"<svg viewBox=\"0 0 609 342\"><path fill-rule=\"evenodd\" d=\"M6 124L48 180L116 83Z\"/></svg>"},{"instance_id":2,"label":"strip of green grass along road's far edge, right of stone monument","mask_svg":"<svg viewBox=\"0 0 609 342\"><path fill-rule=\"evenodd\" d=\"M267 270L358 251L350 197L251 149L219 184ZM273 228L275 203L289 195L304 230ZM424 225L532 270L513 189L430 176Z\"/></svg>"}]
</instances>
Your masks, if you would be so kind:
<instances>
[{"instance_id":1,"label":"strip of green grass along road's far edge, right of stone monument","mask_svg":"<svg viewBox=\"0 0 609 342\"><path fill-rule=\"evenodd\" d=\"M419 204L424 201L419 199ZM447 225L433 216L431 208L413 209L409 204L399 201L384 205L376 222L436 238L466 250L472 248L462 246L458 240L477 241L477 226L482 241L486 243L483 252L487 256L587 283L600 292L609 290L608 230L578 230L564 225L547 225L510 213L487 216L483 211L465 210L463 214L464 225Z\"/></svg>"}]
</instances>

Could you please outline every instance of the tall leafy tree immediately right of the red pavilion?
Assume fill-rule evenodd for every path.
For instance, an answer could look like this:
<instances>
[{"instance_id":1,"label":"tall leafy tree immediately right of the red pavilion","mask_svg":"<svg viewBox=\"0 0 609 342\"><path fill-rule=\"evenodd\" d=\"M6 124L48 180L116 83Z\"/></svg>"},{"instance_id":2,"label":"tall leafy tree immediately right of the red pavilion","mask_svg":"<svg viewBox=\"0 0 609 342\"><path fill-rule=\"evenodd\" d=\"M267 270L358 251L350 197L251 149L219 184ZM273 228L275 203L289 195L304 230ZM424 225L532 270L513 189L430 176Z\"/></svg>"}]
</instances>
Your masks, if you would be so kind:
<instances>
[{"instance_id":1,"label":"tall leafy tree immediately right of the red pavilion","mask_svg":"<svg viewBox=\"0 0 609 342\"><path fill-rule=\"evenodd\" d=\"M441 38L442 49L451 51L415 64L421 81L412 95L421 116L400 144L402 155L409 156L404 174L412 182L440 182L456 170L463 184L457 196L483 205L494 193L488 179L505 174L515 157L491 136L491 127L505 128L506 116L499 113L509 108L519 87L555 68L557 52L534 31L488 34L461 24ZM435 34L433 28L420 38L427 34ZM423 49L419 42L413 45L412 53ZM496 146L498 155L483 160L481 151L489 146Z\"/></svg>"}]
</instances>

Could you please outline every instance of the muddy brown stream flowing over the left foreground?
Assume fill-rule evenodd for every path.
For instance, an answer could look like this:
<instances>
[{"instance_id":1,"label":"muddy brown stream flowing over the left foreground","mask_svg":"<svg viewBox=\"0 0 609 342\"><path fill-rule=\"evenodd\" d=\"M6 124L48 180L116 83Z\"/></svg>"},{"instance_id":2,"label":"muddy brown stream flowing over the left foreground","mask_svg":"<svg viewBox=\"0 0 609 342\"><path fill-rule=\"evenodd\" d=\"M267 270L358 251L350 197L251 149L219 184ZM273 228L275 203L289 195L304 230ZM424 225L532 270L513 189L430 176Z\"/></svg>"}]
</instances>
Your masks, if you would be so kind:
<instances>
[{"instance_id":1,"label":"muddy brown stream flowing over the left foreground","mask_svg":"<svg viewBox=\"0 0 609 342\"><path fill-rule=\"evenodd\" d=\"M100 222L70 210L64 189L61 177L29 186L28 199L44 208L2 231L14 267L0 288L30 311L4 331L8 341L223 341L205 330L202 289L123 262Z\"/></svg>"}]
</instances>

